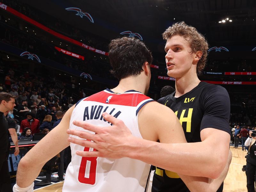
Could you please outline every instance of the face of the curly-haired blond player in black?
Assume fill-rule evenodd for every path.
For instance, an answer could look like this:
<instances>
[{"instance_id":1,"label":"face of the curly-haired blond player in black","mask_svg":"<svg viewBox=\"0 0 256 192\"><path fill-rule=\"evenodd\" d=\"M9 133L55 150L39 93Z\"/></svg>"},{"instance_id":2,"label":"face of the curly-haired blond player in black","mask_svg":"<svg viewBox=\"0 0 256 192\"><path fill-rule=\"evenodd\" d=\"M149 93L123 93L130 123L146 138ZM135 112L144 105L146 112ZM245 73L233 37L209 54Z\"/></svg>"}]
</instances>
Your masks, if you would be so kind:
<instances>
[{"instance_id":1,"label":"face of the curly-haired blond player in black","mask_svg":"<svg viewBox=\"0 0 256 192\"><path fill-rule=\"evenodd\" d=\"M196 73L196 53L192 52L189 42L183 36L174 35L169 38L164 50L168 76L180 78Z\"/></svg>"}]
</instances>

